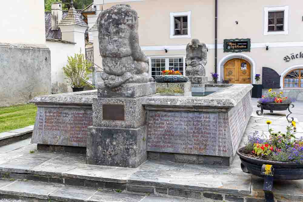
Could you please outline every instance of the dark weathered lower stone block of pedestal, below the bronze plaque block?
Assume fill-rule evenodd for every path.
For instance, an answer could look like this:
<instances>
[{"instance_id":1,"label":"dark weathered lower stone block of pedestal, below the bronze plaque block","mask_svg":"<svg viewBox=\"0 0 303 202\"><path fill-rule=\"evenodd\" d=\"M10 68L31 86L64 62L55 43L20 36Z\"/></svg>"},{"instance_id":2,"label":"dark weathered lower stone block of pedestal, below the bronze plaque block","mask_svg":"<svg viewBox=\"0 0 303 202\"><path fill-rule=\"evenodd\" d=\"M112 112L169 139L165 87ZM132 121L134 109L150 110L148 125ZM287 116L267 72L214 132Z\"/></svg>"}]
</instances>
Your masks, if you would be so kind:
<instances>
[{"instance_id":1,"label":"dark weathered lower stone block of pedestal, below the bronze plaque block","mask_svg":"<svg viewBox=\"0 0 303 202\"><path fill-rule=\"evenodd\" d=\"M146 126L138 128L89 127L86 163L138 167L146 161Z\"/></svg>"}]
</instances>

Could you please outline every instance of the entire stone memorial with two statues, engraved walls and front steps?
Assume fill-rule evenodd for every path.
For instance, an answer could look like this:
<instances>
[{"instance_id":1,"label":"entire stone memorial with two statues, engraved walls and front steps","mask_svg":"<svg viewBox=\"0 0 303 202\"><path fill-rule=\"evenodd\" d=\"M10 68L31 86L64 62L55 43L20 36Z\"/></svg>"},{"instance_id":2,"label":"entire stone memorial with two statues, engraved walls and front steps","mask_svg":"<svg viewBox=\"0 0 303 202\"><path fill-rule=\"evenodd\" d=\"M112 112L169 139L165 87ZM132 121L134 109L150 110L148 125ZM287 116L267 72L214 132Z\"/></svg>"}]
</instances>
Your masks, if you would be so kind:
<instances>
[{"instance_id":1,"label":"entire stone memorial with two statues, engraved walls and front steps","mask_svg":"<svg viewBox=\"0 0 303 202\"><path fill-rule=\"evenodd\" d=\"M104 82L31 100L38 111L26 147L38 152L23 148L3 160L1 176L21 179L12 184L23 191L8 181L0 194L37 201L264 201L263 180L244 173L236 155L247 127L267 127L258 122L266 115L252 116L252 85L208 83L207 50L197 39L186 47L185 76L149 82L138 15L129 5L101 12L98 32ZM286 184L299 190L292 183ZM275 185L277 201L303 199L284 193L284 185Z\"/></svg>"}]
</instances>

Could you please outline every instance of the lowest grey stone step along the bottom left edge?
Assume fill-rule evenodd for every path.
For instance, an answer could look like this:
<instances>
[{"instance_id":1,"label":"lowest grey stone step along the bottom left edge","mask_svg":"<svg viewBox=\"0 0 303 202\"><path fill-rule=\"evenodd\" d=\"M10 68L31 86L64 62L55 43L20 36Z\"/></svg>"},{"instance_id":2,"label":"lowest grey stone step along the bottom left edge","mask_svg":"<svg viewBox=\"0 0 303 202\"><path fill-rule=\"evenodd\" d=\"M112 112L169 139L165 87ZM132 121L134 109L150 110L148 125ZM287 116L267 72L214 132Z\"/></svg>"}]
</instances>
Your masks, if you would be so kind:
<instances>
[{"instance_id":1,"label":"lowest grey stone step along the bottom left edge","mask_svg":"<svg viewBox=\"0 0 303 202\"><path fill-rule=\"evenodd\" d=\"M186 197L163 197L114 189L92 189L14 179L0 180L0 194L0 201L194 202Z\"/></svg>"}]
</instances>

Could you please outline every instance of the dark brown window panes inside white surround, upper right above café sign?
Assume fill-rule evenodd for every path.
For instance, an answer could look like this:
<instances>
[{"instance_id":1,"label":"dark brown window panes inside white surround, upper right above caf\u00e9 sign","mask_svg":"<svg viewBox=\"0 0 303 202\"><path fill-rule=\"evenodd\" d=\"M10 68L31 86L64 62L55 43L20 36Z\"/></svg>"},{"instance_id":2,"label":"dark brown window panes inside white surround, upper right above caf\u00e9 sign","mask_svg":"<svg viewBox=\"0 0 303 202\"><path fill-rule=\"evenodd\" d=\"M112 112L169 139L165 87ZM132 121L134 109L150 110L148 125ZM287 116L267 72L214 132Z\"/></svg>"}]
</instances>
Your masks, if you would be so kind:
<instances>
[{"instance_id":1,"label":"dark brown window panes inside white surround, upper right above caf\u00e9 sign","mask_svg":"<svg viewBox=\"0 0 303 202\"><path fill-rule=\"evenodd\" d=\"M268 12L268 31L284 31L284 11Z\"/></svg>"}]
</instances>

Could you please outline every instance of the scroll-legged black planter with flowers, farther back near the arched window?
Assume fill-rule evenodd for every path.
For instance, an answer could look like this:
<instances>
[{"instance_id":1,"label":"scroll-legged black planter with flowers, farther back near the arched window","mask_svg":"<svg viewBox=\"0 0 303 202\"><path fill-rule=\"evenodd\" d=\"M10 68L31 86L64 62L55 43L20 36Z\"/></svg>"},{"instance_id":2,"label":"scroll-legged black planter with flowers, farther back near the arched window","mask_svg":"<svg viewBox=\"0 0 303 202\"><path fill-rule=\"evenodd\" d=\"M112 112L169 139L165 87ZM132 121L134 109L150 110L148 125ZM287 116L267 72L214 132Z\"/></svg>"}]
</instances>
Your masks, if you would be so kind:
<instances>
[{"instance_id":1,"label":"scroll-legged black planter with flowers, farther back near the arched window","mask_svg":"<svg viewBox=\"0 0 303 202\"><path fill-rule=\"evenodd\" d=\"M257 107L261 108L261 111L257 110L256 113L258 115L262 115L263 110L269 110L270 113L273 113L274 111L284 111L288 109L289 113L292 114L292 112L290 111L290 106L291 108L294 108L295 105L291 104L292 103L291 99L289 99L288 97L282 97L282 95L283 95L282 91L276 93L273 92L272 89L269 89L267 94L262 95L262 98L258 101ZM286 117L287 120L290 114L287 115ZM291 118L291 121L293 120L294 118Z\"/></svg>"}]
</instances>

